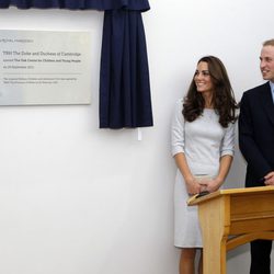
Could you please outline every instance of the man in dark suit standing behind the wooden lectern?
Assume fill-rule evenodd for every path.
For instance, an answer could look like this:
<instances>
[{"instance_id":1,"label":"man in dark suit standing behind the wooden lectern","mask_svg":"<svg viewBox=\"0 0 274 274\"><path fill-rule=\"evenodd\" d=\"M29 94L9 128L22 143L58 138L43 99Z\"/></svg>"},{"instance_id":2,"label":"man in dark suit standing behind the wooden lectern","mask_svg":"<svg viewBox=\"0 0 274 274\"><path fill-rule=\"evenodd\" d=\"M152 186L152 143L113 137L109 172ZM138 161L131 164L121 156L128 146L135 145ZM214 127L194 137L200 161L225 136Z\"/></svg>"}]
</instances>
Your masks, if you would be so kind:
<instances>
[{"instance_id":1,"label":"man in dark suit standing behind the wooden lectern","mask_svg":"<svg viewBox=\"0 0 274 274\"><path fill-rule=\"evenodd\" d=\"M274 39L263 43L262 85L246 91L239 116L239 146L247 160L246 186L274 185ZM271 273L272 241L251 242L250 274Z\"/></svg>"}]
</instances>

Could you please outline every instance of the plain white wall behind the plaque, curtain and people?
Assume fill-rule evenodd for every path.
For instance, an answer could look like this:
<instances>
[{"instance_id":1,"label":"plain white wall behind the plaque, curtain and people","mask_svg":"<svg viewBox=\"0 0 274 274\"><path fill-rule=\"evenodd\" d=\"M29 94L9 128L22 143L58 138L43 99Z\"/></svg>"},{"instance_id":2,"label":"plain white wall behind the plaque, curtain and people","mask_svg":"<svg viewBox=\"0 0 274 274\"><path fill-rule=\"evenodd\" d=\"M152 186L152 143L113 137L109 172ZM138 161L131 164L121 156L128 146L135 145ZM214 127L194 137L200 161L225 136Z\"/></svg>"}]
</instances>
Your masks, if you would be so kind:
<instances>
[{"instance_id":1,"label":"plain white wall behind the plaque, curtain and people","mask_svg":"<svg viewBox=\"0 0 274 274\"><path fill-rule=\"evenodd\" d=\"M103 13L0 10L1 28L93 30L92 104L0 107L0 273L176 274L169 125L196 61L225 62L237 100L262 82L261 43L273 37L272 0L157 0L144 13L155 126L99 129ZM237 151L228 187L243 186ZM249 247L228 273L248 273ZM273 266L274 269L274 266Z\"/></svg>"}]
</instances>

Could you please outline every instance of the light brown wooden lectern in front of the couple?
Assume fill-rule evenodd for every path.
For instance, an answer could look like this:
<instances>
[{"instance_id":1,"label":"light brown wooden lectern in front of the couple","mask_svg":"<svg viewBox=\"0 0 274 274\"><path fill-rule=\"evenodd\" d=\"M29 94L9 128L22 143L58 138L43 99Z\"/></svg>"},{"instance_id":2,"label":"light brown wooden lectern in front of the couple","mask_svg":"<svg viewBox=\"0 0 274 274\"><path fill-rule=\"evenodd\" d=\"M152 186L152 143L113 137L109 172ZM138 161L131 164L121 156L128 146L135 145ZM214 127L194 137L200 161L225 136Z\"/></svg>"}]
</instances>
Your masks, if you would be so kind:
<instances>
[{"instance_id":1,"label":"light brown wooden lectern in front of the couple","mask_svg":"<svg viewBox=\"0 0 274 274\"><path fill-rule=\"evenodd\" d=\"M219 190L189 205L198 205L204 274L225 274L228 250L274 239L274 186Z\"/></svg>"}]
</instances>

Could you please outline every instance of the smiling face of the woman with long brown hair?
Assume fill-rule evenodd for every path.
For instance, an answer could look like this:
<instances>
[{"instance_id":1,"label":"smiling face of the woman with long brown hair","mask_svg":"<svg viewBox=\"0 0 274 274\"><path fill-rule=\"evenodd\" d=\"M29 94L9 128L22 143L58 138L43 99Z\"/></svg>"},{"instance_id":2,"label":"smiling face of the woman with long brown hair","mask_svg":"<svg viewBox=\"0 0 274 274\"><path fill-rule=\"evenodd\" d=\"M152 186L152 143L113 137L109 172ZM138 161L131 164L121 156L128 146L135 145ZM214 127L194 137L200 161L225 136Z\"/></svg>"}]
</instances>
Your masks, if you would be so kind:
<instances>
[{"instance_id":1,"label":"smiling face of the woman with long brown hair","mask_svg":"<svg viewBox=\"0 0 274 274\"><path fill-rule=\"evenodd\" d=\"M195 71L194 81L198 92L213 92L214 84L208 70L208 64L201 61Z\"/></svg>"}]
</instances>

